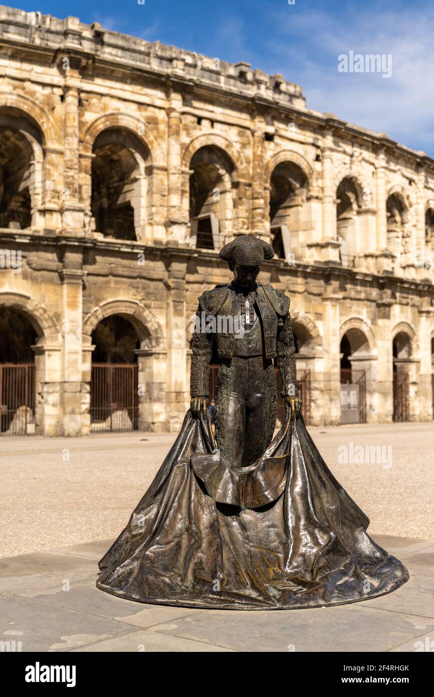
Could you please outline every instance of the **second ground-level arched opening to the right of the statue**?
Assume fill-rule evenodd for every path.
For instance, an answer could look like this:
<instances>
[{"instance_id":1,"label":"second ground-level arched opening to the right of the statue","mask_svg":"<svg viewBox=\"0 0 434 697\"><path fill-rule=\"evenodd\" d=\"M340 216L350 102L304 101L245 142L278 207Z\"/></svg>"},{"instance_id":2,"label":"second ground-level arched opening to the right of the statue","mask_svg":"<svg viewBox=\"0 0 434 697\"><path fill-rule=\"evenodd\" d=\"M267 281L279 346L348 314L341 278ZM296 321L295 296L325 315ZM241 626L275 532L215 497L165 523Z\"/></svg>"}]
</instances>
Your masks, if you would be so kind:
<instances>
[{"instance_id":1,"label":"second ground-level arched opening to the right of the statue","mask_svg":"<svg viewBox=\"0 0 434 697\"><path fill-rule=\"evenodd\" d=\"M341 339L341 423L366 423L366 375L371 372L369 340L361 329ZM371 376L371 382L373 376Z\"/></svg>"}]
</instances>

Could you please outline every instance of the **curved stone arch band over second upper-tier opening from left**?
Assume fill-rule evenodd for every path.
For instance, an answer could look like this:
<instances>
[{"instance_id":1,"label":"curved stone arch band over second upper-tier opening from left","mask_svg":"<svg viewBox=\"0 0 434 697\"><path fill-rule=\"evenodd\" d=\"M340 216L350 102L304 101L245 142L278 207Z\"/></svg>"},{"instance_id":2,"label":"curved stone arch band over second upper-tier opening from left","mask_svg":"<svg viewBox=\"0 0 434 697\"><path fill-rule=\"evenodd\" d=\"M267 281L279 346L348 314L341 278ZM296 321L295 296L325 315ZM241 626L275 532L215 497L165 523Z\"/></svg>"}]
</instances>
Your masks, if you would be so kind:
<instances>
[{"instance_id":1,"label":"curved stone arch band over second upper-tier opening from left","mask_svg":"<svg viewBox=\"0 0 434 697\"><path fill-rule=\"evenodd\" d=\"M141 128L144 127L144 134L141 134ZM97 137L104 130L109 130L113 128L125 128L130 131L137 140L146 148L148 151L148 160L146 161L146 166L153 165L155 162L162 162L162 153L160 146L158 145L153 133L150 129L146 128L146 123L144 119L139 118L139 116L132 116L131 114L118 114L116 112L111 114L104 114L104 116L99 116L95 119L82 134L82 144L84 146L84 151L90 155L92 153L92 148Z\"/></svg>"}]
</instances>

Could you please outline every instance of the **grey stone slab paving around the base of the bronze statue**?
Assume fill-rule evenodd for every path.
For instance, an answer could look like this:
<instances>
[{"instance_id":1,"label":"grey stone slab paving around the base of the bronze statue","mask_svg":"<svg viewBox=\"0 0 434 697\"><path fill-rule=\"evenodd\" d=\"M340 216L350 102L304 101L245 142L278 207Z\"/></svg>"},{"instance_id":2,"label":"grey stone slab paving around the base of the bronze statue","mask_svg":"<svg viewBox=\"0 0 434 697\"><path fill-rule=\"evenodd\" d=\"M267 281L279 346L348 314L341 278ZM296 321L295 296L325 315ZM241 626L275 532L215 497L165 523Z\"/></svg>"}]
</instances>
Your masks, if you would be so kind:
<instances>
[{"instance_id":1,"label":"grey stone slab paving around the base of the bronze statue","mask_svg":"<svg viewBox=\"0 0 434 697\"><path fill-rule=\"evenodd\" d=\"M98 560L112 539L3 558L0 638L22 641L23 652L414 652L434 639L434 542L373 537L403 560L408 583L365 602L295 611L156 606L101 592Z\"/></svg>"}]
</instances>

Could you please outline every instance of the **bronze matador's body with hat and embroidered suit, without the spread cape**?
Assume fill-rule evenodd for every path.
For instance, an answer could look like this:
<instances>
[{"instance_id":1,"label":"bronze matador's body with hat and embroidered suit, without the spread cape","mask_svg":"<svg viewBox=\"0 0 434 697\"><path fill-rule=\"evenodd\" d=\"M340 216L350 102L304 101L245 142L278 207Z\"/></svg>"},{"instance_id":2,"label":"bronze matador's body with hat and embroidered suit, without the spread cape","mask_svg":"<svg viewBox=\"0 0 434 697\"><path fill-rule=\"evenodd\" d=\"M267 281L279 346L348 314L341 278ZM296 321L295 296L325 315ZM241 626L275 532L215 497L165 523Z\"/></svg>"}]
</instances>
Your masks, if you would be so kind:
<instances>
[{"instance_id":1,"label":"bronze matador's body with hat and embroidered suit, without the spread cape","mask_svg":"<svg viewBox=\"0 0 434 697\"><path fill-rule=\"evenodd\" d=\"M197 327L201 327L203 313L208 327L210 316L215 316L216 321L215 332L193 332L192 412L197 415L208 409L214 344L221 360L215 392L217 445L234 465L245 467L261 457L274 432L274 359L279 370L280 394L294 413L300 411L295 345L289 298L272 286L256 284L261 263L274 256L272 246L246 235L225 245L219 255L228 262L233 281L205 291L199 298ZM218 318L223 321L218 322ZM219 325L226 331L219 332Z\"/></svg>"}]
</instances>

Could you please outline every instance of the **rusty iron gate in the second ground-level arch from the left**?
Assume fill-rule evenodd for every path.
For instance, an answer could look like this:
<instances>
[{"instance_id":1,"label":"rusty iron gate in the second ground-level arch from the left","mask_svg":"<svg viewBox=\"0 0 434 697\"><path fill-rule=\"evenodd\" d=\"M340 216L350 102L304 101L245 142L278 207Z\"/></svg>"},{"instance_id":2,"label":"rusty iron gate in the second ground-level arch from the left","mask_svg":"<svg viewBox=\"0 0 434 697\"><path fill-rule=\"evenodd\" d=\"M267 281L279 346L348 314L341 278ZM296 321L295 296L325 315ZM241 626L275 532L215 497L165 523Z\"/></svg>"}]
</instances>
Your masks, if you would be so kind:
<instances>
[{"instance_id":1,"label":"rusty iron gate in the second ground-level arch from the left","mask_svg":"<svg viewBox=\"0 0 434 697\"><path fill-rule=\"evenodd\" d=\"M137 431L139 427L137 363L93 363L91 431Z\"/></svg>"}]
</instances>

